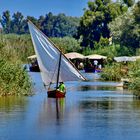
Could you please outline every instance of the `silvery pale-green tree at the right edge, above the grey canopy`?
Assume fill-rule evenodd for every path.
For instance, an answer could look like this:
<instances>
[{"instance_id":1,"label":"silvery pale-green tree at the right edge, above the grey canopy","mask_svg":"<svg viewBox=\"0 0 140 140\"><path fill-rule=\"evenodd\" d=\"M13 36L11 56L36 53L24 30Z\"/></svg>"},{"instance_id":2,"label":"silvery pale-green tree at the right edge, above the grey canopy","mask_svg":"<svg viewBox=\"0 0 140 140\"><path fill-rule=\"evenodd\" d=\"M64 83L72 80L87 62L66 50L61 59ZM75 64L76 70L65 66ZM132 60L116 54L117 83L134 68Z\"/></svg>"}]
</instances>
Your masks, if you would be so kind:
<instances>
[{"instance_id":1,"label":"silvery pale-green tree at the right edge, above the grey canopy","mask_svg":"<svg viewBox=\"0 0 140 140\"><path fill-rule=\"evenodd\" d=\"M140 48L140 2L129 13L116 18L109 25L114 43L136 51Z\"/></svg>"}]
</instances>

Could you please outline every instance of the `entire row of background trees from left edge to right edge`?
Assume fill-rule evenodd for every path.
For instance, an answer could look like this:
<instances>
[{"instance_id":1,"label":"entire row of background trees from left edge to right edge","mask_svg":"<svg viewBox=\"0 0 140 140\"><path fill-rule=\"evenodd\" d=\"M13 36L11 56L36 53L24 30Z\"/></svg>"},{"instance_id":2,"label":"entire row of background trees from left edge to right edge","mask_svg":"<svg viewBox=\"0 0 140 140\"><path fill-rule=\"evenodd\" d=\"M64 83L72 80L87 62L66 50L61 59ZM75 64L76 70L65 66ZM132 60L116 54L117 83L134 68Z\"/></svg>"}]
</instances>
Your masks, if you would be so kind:
<instances>
[{"instance_id":1,"label":"entire row of background trees from left edge to right edge","mask_svg":"<svg viewBox=\"0 0 140 140\"><path fill-rule=\"evenodd\" d=\"M81 50L100 49L117 44L136 50L140 48L140 2L134 0L94 0L88 2L82 17L70 17L65 14L45 16L27 16L9 11L3 12L0 23L3 32L28 34L27 19L32 21L48 37L74 37ZM89 52L91 52L89 50Z\"/></svg>"}]
</instances>

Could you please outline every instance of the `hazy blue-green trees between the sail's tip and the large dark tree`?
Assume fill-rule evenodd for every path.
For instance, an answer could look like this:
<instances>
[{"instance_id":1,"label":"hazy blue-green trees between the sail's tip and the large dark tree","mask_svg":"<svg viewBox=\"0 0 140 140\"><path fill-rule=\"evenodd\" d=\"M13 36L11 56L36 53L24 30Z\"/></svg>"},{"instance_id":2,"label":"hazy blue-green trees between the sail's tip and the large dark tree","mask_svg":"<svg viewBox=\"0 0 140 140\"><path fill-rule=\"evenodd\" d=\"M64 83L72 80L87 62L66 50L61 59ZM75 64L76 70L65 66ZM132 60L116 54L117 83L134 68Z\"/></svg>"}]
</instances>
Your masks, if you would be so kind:
<instances>
[{"instance_id":1,"label":"hazy blue-green trees between the sail's tip and the large dark tree","mask_svg":"<svg viewBox=\"0 0 140 140\"><path fill-rule=\"evenodd\" d=\"M48 37L64 37L76 34L79 18L68 17L65 14L53 15L51 12L41 19L39 24L43 27L42 31Z\"/></svg>"}]
</instances>

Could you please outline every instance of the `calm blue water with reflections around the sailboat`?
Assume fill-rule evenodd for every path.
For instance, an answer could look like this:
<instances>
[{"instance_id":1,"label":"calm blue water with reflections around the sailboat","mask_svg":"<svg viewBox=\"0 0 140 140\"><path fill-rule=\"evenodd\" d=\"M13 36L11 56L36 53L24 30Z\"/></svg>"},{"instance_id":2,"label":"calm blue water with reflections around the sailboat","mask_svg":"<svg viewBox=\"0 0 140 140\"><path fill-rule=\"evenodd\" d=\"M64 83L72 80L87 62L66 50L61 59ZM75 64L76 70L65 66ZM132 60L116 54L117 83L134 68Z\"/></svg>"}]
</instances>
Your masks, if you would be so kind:
<instances>
[{"instance_id":1,"label":"calm blue water with reflections around the sailboat","mask_svg":"<svg viewBox=\"0 0 140 140\"><path fill-rule=\"evenodd\" d=\"M66 83L65 99L46 95L40 74L30 73L32 97L0 98L0 140L139 140L140 101L131 92L100 82Z\"/></svg>"}]
</instances>

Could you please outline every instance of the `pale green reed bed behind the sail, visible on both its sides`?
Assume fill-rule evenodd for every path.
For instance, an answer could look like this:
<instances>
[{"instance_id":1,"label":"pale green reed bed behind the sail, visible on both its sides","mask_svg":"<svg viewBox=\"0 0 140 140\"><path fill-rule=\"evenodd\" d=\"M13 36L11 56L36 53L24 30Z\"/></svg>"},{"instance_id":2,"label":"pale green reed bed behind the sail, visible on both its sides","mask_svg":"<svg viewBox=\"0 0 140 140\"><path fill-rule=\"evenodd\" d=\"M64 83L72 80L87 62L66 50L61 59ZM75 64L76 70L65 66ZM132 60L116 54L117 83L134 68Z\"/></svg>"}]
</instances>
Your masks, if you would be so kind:
<instances>
[{"instance_id":1,"label":"pale green reed bed behind the sail, visible on both its sides","mask_svg":"<svg viewBox=\"0 0 140 140\"><path fill-rule=\"evenodd\" d=\"M71 51L80 51L81 47L78 41L72 37L50 38L53 43L63 51L63 53ZM31 37L29 34L0 34L1 47L5 50L5 57L10 60L21 60L27 63L27 57L35 54ZM16 54L16 55L15 55Z\"/></svg>"}]
</instances>

